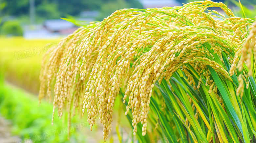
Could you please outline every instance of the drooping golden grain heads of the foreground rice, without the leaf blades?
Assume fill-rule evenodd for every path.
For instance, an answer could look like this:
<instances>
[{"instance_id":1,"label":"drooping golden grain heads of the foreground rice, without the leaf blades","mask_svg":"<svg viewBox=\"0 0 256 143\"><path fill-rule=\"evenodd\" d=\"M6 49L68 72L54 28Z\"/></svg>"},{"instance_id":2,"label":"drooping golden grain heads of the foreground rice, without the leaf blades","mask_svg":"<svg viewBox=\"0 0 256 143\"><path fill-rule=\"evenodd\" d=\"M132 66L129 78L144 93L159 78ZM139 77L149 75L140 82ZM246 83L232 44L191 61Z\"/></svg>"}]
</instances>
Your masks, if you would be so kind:
<instances>
[{"instance_id":1,"label":"drooping golden grain heads of the foreground rice, without the leaf blades","mask_svg":"<svg viewBox=\"0 0 256 143\"><path fill-rule=\"evenodd\" d=\"M225 15L208 10L210 7L223 9ZM140 122L144 136L155 82L168 81L178 69L186 74L195 89L200 88L205 78L206 86L210 86L209 93L213 92L222 103L215 82L209 80L207 65L231 80L231 76L237 74L237 67L242 69L243 63L250 63L248 53L256 52L253 48L256 22L253 22L235 17L223 3L210 0L181 7L117 10L102 22L78 28L49 54L49 58L46 56L39 98L51 98L53 93L53 116L56 107L59 117L66 109L69 123L75 109L80 112L83 100L82 114L87 110L91 130L99 117L106 140L111 131L115 98L120 88L126 87L125 114L131 110L134 135ZM214 50L215 55L209 50ZM214 60L214 56L223 60L222 53L232 64L230 71ZM199 83L190 77L185 63L194 67L201 79ZM239 82L245 76L247 73L240 75ZM238 94L243 87L241 82ZM198 111L196 116L199 116Z\"/></svg>"}]
</instances>

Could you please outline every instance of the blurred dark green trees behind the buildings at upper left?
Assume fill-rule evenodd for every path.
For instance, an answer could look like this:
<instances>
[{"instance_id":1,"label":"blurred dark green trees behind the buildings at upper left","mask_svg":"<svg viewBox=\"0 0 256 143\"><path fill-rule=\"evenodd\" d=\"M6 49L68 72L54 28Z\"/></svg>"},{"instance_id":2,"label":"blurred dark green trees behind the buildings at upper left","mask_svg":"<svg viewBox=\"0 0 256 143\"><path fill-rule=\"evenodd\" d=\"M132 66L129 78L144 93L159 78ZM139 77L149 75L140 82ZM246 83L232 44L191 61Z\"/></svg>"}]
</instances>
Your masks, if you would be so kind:
<instances>
[{"instance_id":1,"label":"blurred dark green trees behind the buildings at upper left","mask_svg":"<svg viewBox=\"0 0 256 143\"><path fill-rule=\"evenodd\" d=\"M29 15L30 0L1 0L5 7L0 14L13 15L26 19ZM99 10L103 20L117 9L142 8L137 0L35 0L36 21L58 19L67 15L77 16L81 11Z\"/></svg>"}]
</instances>

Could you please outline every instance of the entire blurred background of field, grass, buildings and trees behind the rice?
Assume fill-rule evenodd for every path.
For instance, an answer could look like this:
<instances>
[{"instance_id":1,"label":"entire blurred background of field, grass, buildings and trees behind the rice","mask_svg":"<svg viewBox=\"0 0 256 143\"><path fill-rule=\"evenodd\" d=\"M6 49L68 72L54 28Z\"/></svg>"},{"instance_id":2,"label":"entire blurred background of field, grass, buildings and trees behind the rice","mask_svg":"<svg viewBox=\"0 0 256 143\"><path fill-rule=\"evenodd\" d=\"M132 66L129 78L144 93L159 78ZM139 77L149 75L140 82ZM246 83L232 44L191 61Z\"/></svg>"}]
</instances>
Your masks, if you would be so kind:
<instances>
[{"instance_id":1,"label":"entire blurred background of field, grass, buildings and trees behind the rice","mask_svg":"<svg viewBox=\"0 0 256 143\"><path fill-rule=\"evenodd\" d=\"M45 100L38 106L42 56L61 38L74 32L79 24L101 21L117 9L172 7L190 1L0 0L0 143L103 142L102 125L98 124L90 131L86 116L72 119L74 130L70 136L66 132L65 117L62 120L55 118L51 125L52 103ZM237 0L219 1L236 16L243 17ZM246 17L253 18L256 1L241 2ZM72 20L76 23L70 22ZM133 141L123 111L118 105L115 110L112 133L107 142L119 142L120 136L122 141Z\"/></svg>"}]
</instances>

